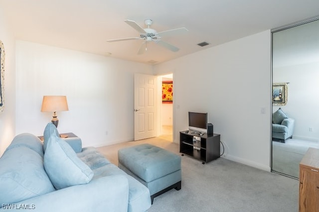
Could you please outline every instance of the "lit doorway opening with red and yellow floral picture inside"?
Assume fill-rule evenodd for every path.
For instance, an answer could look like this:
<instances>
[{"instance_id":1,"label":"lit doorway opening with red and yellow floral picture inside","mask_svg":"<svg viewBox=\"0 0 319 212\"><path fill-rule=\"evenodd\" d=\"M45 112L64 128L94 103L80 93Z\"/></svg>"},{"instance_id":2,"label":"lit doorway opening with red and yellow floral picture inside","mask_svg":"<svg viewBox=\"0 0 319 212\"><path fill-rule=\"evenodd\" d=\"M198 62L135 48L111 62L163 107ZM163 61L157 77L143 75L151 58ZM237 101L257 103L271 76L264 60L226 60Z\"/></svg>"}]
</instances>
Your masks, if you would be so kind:
<instances>
[{"instance_id":1,"label":"lit doorway opening with red and yellow floral picture inside","mask_svg":"<svg viewBox=\"0 0 319 212\"><path fill-rule=\"evenodd\" d=\"M165 140L173 141L173 74L159 76L160 78L160 135Z\"/></svg>"}]
</instances>

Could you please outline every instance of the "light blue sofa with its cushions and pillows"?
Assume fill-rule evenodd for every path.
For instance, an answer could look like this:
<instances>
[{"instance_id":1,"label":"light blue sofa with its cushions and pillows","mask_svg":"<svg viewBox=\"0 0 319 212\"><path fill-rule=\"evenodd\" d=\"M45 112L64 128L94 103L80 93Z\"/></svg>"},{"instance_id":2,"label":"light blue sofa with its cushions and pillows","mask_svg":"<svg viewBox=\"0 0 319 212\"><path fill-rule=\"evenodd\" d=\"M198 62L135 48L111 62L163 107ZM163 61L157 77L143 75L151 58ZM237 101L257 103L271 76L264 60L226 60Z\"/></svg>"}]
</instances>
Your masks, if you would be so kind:
<instances>
[{"instance_id":1,"label":"light blue sofa with its cushions and pillows","mask_svg":"<svg viewBox=\"0 0 319 212\"><path fill-rule=\"evenodd\" d=\"M143 212L151 207L147 187L110 163L94 147L74 149L49 123L41 140L14 137L0 158L0 211ZM23 211L23 210L22 210Z\"/></svg>"}]
</instances>

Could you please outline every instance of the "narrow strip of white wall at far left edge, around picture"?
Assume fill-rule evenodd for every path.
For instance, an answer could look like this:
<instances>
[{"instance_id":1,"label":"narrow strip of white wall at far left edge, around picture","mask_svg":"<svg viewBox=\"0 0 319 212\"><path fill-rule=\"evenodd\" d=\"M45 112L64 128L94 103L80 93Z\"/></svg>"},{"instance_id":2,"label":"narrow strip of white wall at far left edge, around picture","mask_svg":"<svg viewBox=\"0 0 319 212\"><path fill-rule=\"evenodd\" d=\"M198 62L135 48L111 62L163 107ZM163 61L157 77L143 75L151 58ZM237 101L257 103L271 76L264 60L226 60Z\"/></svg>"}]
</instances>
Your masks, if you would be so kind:
<instances>
[{"instance_id":1,"label":"narrow strip of white wall at far left edge, around picture","mask_svg":"<svg viewBox=\"0 0 319 212\"><path fill-rule=\"evenodd\" d=\"M0 113L0 156L14 137L15 128L15 42L0 7L0 40L4 45L4 110Z\"/></svg>"}]
</instances>

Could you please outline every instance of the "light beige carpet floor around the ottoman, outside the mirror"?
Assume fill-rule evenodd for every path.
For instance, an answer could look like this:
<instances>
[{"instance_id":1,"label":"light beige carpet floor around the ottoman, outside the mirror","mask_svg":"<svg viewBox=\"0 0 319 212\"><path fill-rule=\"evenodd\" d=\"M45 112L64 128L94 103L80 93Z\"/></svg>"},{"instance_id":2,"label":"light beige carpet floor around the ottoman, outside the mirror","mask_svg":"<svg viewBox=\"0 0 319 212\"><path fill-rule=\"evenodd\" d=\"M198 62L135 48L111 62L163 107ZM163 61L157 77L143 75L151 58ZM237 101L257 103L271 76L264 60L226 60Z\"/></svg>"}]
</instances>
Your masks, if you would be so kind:
<instances>
[{"instance_id":1,"label":"light beige carpet floor around the ottoman, outside the mirror","mask_svg":"<svg viewBox=\"0 0 319 212\"><path fill-rule=\"evenodd\" d=\"M179 145L165 136L98 150L117 165L119 149L142 143L179 154ZM225 158L205 165L188 156L181 159L181 190L172 189L155 198L149 212L298 212L298 180Z\"/></svg>"}]
</instances>

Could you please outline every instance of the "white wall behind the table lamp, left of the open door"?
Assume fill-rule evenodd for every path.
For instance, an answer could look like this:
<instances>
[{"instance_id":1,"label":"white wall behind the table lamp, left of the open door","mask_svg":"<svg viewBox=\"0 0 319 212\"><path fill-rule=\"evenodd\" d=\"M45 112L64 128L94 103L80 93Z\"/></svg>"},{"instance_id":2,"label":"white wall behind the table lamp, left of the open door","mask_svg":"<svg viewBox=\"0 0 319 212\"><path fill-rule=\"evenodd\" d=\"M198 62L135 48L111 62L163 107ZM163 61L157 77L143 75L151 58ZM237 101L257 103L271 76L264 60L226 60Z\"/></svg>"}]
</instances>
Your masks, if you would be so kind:
<instances>
[{"instance_id":1,"label":"white wall behind the table lamp, left of the open door","mask_svg":"<svg viewBox=\"0 0 319 212\"><path fill-rule=\"evenodd\" d=\"M65 95L69 111L58 112L60 133L75 133L83 146L133 140L137 72L152 74L152 66L17 41L16 134L43 134L52 119L40 112L43 96Z\"/></svg>"}]
</instances>

